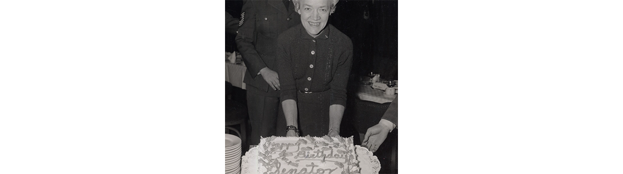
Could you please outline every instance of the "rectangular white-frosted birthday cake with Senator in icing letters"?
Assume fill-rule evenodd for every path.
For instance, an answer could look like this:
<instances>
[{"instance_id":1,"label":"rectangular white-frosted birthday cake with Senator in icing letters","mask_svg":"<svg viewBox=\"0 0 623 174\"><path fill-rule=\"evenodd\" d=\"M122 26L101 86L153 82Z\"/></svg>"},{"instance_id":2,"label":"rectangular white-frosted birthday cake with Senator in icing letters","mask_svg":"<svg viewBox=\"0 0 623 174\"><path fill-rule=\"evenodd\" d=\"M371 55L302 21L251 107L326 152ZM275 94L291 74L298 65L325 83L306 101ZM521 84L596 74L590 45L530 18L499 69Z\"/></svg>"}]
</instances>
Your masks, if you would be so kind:
<instances>
[{"instance_id":1,"label":"rectangular white-frosted birthday cake with Senator in icing letters","mask_svg":"<svg viewBox=\"0 0 623 174\"><path fill-rule=\"evenodd\" d=\"M353 137L267 137L258 146L258 173L359 173Z\"/></svg>"}]
</instances>

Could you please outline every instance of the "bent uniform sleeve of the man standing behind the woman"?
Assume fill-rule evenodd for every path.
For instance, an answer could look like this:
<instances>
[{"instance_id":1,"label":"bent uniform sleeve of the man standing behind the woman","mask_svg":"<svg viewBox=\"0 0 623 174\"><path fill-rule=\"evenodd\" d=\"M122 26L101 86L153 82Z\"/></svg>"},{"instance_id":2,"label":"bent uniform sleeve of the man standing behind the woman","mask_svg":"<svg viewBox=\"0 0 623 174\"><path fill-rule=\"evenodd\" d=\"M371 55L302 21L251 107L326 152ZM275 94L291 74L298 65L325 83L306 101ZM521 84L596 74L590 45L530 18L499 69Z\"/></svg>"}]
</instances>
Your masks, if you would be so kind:
<instances>
[{"instance_id":1,"label":"bent uniform sleeve of the man standing behind the woman","mask_svg":"<svg viewBox=\"0 0 623 174\"><path fill-rule=\"evenodd\" d=\"M247 70L251 74L252 78L257 76L257 73L262 68L267 67L260 57L253 42L255 42L255 15L256 9L253 1L244 1L242 5L242 14L240 14L240 22L238 27L238 34L235 37L235 43L238 46L238 51L242 55Z\"/></svg>"}]
</instances>

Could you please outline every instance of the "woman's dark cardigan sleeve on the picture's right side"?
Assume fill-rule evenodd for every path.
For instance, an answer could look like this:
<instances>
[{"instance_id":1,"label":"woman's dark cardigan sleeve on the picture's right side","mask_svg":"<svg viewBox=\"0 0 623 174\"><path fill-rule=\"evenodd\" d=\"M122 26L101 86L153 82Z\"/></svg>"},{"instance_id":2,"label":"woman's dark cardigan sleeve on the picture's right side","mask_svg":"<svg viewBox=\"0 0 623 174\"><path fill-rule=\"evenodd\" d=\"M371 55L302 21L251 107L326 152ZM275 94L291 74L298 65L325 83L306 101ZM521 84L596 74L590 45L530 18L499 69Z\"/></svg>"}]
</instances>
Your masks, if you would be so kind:
<instances>
[{"instance_id":1,"label":"woman's dark cardigan sleeve on the picture's right side","mask_svg":"<svg viewBox=\"0 0 623 174\"><path fill-rule=\"evenodd\" d=\"M336 68L333 80L331 80L331 105L340 104L346 107L346 85L353 65L353 42L348 39L345 44L345 52L340 55L340 61Z\"/></svg>"}]
</instances>

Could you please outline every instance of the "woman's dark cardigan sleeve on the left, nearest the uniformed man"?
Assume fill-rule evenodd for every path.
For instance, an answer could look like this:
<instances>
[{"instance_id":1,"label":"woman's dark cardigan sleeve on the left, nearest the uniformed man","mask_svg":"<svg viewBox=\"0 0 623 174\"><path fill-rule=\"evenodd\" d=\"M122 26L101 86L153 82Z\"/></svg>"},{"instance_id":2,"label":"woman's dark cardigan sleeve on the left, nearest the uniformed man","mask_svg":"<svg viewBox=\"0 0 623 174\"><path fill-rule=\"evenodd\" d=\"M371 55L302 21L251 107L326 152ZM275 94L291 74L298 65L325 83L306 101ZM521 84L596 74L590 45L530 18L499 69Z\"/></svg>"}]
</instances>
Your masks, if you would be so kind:
<instances>
[{"instance_id":1,"label":"woman's dark cardigan sleeve on the left, nearest the uniformed man","mask_svg":"<svg viewBox=\"0 0 623 174\"><path fill-rule=\"evenodd\" d=\"M283 35L282 35L283 36ZM279 74L279 85L281 87L280 102L287 99L293 99L297 101L297 85L292 76L292 57L290 57L290 47L285 39L278 38L277 41L277 69Z\"/></svg>"}]
</instances>

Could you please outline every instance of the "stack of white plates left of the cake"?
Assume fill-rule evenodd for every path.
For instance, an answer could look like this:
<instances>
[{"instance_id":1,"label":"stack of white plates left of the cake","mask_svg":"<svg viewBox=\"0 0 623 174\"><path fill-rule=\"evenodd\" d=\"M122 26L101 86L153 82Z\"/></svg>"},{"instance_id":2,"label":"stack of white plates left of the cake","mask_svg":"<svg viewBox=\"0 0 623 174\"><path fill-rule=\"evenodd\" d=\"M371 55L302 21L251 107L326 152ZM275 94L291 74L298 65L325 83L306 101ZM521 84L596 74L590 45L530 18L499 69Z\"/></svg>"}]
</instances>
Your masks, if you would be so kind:
<instances>
[{"instance_id":1,"label":"stack of white plates left of the cake","mask_svg":"<svg viewBox=\"0 0 623 174\"><path fill-rule=\"evenodd\" d=\"M240 173L240 155L242 141L239 137L225 134L225 173Z\"/></svg>"}]
</instances>

